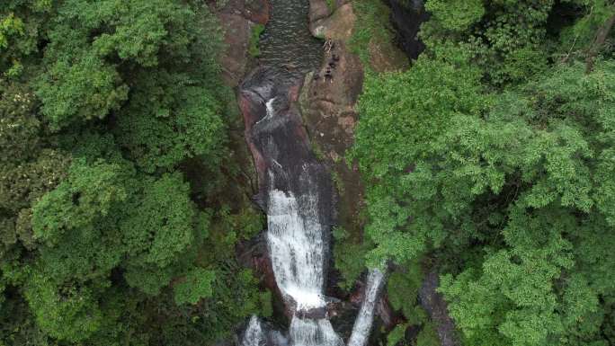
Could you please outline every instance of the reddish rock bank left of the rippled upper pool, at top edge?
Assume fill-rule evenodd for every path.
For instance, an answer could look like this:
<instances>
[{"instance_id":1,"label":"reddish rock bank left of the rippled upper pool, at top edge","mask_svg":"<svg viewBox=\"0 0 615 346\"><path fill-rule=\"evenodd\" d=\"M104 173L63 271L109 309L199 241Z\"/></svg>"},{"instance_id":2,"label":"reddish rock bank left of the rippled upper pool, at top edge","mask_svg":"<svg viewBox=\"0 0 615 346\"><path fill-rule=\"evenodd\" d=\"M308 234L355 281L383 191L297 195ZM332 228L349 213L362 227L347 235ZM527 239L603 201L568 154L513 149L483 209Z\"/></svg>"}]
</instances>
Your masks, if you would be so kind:
<instances>
[{"instance_id":1,"label":"reddish rock bank left of the rippled upper pool, at top edge","mask_svg":"<svg viewBox=\"0 0 615 346\"><path fill-rule=\"evenodd\" d=\"M266 24L270 13L268 0L227 0L227 4L217 10L227 45L220 62L228 85L236 86L245 75L252 28L256 24Z\"/></svg>"}]
</instances>

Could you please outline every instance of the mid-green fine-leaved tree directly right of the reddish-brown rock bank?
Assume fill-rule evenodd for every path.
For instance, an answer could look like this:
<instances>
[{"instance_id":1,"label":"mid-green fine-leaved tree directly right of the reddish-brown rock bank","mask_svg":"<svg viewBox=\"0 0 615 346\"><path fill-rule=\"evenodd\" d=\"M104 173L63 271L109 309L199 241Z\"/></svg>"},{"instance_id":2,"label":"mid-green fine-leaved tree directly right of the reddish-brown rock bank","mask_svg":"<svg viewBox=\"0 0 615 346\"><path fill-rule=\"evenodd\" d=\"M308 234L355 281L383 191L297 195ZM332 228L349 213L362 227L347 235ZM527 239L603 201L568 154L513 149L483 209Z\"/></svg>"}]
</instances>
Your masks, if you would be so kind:
<instances>
[{"instance_id":1,"label":"mid-green fine-leaved tree directly right of the reddish-brown rock bank","mask_svg":"<svg viewBox=\"0 0 615 346\"><path fill-rule=\"evenodd\" d=\"M358 160L364 179L370 182L371 222L366 232L377 244L371 253L373 263L389 256L405 262L422 253L428 242L440 243L446 215L459 213L460 201L437 208L420 204L419 200L437 198L438 193L430 186L432 173L423 166L432 162L430 155L443 149L438 138L452 126L451 119L480 112L488 104L488 99L477 97L482 90L479 78L479 71L467 64L455 67L443 60L419 58L405 73L366 82L350 157ZM441 193L462 198L457 191ZM409 205L412 212L406 208ZM416 218L417 209L438 217ZM411 218L415 222L409 223ZM406 226L410 227L406 232L399 232Z\"/></svg>"}]
</instances>

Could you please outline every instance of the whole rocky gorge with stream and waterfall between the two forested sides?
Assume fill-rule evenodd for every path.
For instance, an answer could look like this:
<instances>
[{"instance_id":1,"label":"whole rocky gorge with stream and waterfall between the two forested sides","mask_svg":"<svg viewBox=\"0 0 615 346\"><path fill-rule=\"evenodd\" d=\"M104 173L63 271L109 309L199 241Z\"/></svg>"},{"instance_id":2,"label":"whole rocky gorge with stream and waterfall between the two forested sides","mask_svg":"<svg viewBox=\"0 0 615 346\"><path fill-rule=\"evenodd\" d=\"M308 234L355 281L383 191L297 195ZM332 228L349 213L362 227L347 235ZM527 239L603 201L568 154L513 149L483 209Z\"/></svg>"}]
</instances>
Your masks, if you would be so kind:
<instances>
[{"instance_id":1,"label":"whole rocky gorge with stream and waterfall between the two forested sides","mask_svg":"<svg viewBox=\"0 0 615 346\"><path fill-rule=\"evenodd\" d=\"M395 1L390 5L396 9ZM334 246L330 232L332 226L340 225L361 237L361 177L356 166L345 163L344 156L352 146L353 129L358 119L356 102L365 74L407 68L406 57L415 58L422 49L415 35L424 16L419 8L412 18L414 27L406 25L396 31L401 35L398 46L392 41L371 40L366 60L352 49L352 37L358 25L352 2L336 1L331 6L325 0L306 1L305 24L299 21L299 25L306 27L299 38L297 32L301 28L289 27L289 22L276 22L276 18L272 18L276 10L285 6L281 1L231 0L218 11L226 32L227 51L222 58L225 78L227 84L237 88L237 102L245 120L245 140L254 159L258 188L253 200L269 216L270 235L241 245L238 252L246 265L261 273L263 284L277 292L280 304L275 306L279 313L289 321L299 316L299 321L316 321L316 324L303 325L304 332L298 332L298 323L293 322L290 333L281 333L271 324L253 317L237 342L245 346L263 342L272 345L343 342L329 326L330 319L349 344L370 344L374 316L378 318L376 323L388 330L398 322L387 297L381 296L385 281L380 277L374 286L366 276L357 282L352 295L334 289L337 274L330 263ZM300 8L294 10L300 11ZM279 11L288 11L288 7ZM404 11L407 11L405 7L391 14L396 28L399 28L400 18L407 15ZM289 13L282 15L288 20ZM257 25L266 25L260 42L261 55L250 57L247 49L251 44L251 32ZM295 37L289 39L288 35ZM303 41L297 44L298 40ZM298 47L309 49L309 54L305 50L297 51ZM252 72L248 72L249 69ZM280 192L276 191L283 191L283 195L277 196ZM279 205L281 200L288 202L289 197L290 205ZM312 215L307 215L309 213ZM286 215L281 224L272 221L276 215ZM299 266L316 270L316 282L311 276L314 272L298 271L295 263L300 251L297 246L307 243L280 243L280 240L272 241L271 235L272 229L277 229L274 233L280 235L285 232L280 227L299 225L301 228L307 224L320 229L316 234L307 232L306 239L311 244L316 241L320 249L312 249L311 254L307 254L307 262ZM301 229L299 233L306 234L307 228ZM272 256L272 251L276 250L272 247L286 253L285 257L276 260L275 255ZM289 268L282 268L289 264ZM298 297L296 290L297 284L307 284L306 279L315 289L308 295L313 297L307 297L311 302L307 305L301 301L305 295ZM289 281L294 283L289 285ZM425 282L423 301L436 306L429 309L433 314L446 315L446 311L441 311L444 302L435 292L436 287L431 281ZM361 306L370 309L360 311ZM369 322L363 323L359 327L363 330L351 336L355 316ZM327 321L326 326L317 321ZM450 319L443 324L450 324ZM447 342L452 340L450 328L441 329L442 344L452 344Z\"/></svg>"}]
</instances>

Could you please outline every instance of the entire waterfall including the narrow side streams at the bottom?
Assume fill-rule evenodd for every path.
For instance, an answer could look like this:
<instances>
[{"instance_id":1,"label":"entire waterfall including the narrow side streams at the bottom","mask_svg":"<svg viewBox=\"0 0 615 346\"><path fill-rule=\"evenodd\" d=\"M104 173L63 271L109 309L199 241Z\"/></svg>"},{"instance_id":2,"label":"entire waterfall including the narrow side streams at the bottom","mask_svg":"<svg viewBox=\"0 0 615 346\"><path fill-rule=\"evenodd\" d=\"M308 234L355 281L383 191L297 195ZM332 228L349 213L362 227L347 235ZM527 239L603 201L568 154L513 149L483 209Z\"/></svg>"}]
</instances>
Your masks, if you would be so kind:
<instances>
[{"instance_id":1,"label":"entire waterfall including the narrow side streams at the bottom","mask_svg":"<svg viewBox=\"0 0 615 346\"><path fill-rule=\"evenodd\" d=\"M263 323L253 316L242 346L343 346L328 320L325 297L331 177L310 151L296 100L290 97L292 79L281 76L288 75L267 68L254 71L242 84L242 104L246 139L261 170L257 200L267 214L269 258L291 315L290 330L286 336L263 331ZM367 344L384 281L382 271L369 272L349 346Z\"/></svg>"}]
</instances>

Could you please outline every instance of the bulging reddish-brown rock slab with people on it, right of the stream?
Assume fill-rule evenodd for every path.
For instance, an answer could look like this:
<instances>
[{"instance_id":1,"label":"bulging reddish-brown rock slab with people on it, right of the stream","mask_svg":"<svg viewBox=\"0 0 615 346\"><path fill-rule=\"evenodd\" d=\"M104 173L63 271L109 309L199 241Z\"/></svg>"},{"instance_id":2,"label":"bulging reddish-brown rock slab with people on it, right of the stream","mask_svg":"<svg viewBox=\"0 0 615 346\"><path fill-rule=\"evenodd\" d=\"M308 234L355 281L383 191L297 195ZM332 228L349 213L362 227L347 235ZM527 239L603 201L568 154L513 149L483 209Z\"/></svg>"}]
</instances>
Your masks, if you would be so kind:
<instances>
[{"instance_id":1,"label":"bulging reddish-brown rock slab with people on it, right of the stream","mask_svg":"<svg viewBox=\"0 0 615 346\"><path fill-rule=\"evenodd\" d=\"M360 233L361 176L345 164L343 157L354 139L363 67L343 41L334 41L332 46L325 51L320 70L307 75L299 104L310 139L327 153L325 162L343 182L343 191L337 196L338 224L351 233Z\"/></svg>"}]
</instances>

